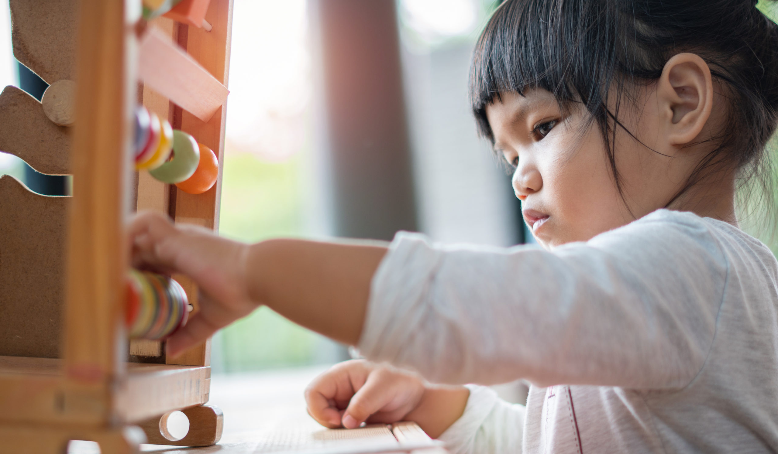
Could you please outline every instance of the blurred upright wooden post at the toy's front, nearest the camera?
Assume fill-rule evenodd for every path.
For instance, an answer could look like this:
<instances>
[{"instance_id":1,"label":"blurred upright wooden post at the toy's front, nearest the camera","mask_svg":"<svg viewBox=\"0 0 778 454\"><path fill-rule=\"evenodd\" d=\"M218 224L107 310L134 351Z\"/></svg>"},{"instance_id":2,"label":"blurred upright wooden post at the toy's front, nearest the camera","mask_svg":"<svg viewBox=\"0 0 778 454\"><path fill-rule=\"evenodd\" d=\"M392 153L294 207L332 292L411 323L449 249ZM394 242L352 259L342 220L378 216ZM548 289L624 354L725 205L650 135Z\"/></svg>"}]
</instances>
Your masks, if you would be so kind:
<instances>
[{"instance_id":1,"label":"blurred upright wooden post at the toy's front, nearest the camera","mask_svg":"<svg viewBox=\"0 0 778 454\"><path fill-rule=\"evenodd\" d=\"M65 376L95 393L94 410L108 418L112 384L124 374L122 329L128 250L124 222L129 134L136 82L133 40L122 0L81 0L68 223ZM68 402L65 399L65 402Z\"/></svg>"}]
</instances>

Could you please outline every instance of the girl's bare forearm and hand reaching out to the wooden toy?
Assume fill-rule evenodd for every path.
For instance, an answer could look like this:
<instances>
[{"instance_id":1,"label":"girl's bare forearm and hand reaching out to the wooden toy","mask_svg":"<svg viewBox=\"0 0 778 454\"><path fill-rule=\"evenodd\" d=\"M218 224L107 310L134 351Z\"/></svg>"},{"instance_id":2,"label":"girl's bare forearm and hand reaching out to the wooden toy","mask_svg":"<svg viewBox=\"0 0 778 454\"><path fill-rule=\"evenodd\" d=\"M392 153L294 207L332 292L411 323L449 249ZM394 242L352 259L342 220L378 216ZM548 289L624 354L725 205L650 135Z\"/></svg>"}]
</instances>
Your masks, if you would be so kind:
<instances>
[{"instance_id":1,"label":"girl's bare forearm and hand reaching out to the wooden toy","mask_svg":"<svg viewBox=\"0 0 778 454\"><path fill-rule=\"evenodd\" d=\"M267 305L289 320L346 344L362 333L370 281L387 251L378 243L273 239L247 245L146 212L129 229L135 267L186 274L200 311L167 342L175 356Z\"/></svg>"}]
</instances>

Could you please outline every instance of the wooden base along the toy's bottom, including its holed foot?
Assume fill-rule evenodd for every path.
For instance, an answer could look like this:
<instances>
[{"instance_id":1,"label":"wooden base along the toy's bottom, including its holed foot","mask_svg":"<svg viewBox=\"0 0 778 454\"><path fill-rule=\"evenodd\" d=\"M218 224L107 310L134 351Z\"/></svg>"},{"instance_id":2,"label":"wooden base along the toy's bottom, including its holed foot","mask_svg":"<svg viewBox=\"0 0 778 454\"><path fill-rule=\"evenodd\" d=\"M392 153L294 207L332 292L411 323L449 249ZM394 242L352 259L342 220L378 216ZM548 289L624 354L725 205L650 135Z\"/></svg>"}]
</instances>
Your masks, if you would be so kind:
<instances>
[{"instance_id":1,"label":"wooden base along the toy's bottom, including its holed foot","mask_svg":"<svg viewBox=\"0 0 778 454\"><path fill-rule=\"evenodd\" d=\"M180 446L219 442L222 410L202 405L209 398L210 367L142 363L128 363L127 367L127 381L121 386L117 404L125 408L128 421L146 421L139 424L140 428L90 428L89 424L74 425L72 419L61 414L65 405L61 401L67 401L67 391L62 389L60 359L0 356L0 402L4 409L0 415L0 454L61 454L68 440L97 442L103 454L138 452L138 445L145 442ZM30 382L36 384L33 399L30 391L20 392L23 384ZM150 408L154 409L152 414L163 416L147 419ZM180 440L171 440L164 435L169 436L166 414L180 409L189 418L189 432ZM40 424L42 419L51 424ZM165 420L163 424L161 419Z\"/></svg>"}]
</instances>

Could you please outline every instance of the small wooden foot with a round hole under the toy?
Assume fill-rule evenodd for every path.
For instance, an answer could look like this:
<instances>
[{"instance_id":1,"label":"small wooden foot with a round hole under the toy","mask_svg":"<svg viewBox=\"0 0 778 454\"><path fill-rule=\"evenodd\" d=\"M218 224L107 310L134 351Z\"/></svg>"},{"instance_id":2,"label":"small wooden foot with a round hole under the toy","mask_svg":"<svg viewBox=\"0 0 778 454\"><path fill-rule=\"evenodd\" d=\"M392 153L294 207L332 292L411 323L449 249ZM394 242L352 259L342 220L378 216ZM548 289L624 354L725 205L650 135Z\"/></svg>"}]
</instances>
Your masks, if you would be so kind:
<instances>
[{"instance_id":1,"label":"small wooden foot with a round hole under the toy","mask_svg":"<svg viewBox=\"0 0 778 454\"><path fill-rule=\"evenodd\" d=\"M189 418L189 431L180 440L170 439L167 417L163 414L140 424L152 445L212 446L222 438L224 415L219 407L200 405L181 410Z\"/></svg>"}]
</instances>

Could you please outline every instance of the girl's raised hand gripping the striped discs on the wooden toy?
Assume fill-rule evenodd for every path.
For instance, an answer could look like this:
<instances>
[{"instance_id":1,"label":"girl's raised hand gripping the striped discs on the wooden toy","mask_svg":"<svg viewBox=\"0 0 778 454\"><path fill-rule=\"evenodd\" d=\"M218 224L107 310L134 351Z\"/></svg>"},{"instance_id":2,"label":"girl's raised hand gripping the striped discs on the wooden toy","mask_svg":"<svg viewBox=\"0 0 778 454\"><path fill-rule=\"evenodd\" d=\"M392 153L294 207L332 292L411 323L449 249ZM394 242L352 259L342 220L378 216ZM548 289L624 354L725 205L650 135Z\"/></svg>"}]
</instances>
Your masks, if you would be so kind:
<instances>
[{"instance_id":1,"label":"girl's raised hand gripping the striped discs on the wooden toy","mask_svg":"<svg viewBox=\"0 0 778 454\"><path fill-rule=\"evenodd\" d=\"M166 216L154 212L135 216L129 239L134 267L186 274L199 286L199 311L167 340L170 356L202 342L258 307L246 281L247 245L195 226L173 225Z\"/></svg>"}]
</instances>

